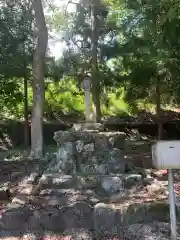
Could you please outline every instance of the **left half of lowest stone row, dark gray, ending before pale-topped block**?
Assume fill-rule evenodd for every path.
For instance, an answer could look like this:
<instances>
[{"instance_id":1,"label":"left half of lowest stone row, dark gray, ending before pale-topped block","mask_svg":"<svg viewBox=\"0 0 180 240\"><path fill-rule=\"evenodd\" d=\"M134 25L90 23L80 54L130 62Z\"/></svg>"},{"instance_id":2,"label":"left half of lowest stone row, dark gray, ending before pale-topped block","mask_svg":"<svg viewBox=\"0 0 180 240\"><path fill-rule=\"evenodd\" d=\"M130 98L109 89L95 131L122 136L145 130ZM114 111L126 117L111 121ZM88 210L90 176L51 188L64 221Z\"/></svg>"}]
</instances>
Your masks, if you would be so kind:
<instances>
[{"instance_id":1,"label":"left half of lowest stone row, dark gray, ending before pale-topped block","mask_svg":"<svg viewBox=\"0 0 180 240\"><path fill-rule=\"evenodd\" d=\"M63 207L33 208L32 205L8 204L1 216L1 228L20 231L26 228L64 232L71 228L92 229L93 208L86 202L75 202Z\"/></svg>"}]
</instances>

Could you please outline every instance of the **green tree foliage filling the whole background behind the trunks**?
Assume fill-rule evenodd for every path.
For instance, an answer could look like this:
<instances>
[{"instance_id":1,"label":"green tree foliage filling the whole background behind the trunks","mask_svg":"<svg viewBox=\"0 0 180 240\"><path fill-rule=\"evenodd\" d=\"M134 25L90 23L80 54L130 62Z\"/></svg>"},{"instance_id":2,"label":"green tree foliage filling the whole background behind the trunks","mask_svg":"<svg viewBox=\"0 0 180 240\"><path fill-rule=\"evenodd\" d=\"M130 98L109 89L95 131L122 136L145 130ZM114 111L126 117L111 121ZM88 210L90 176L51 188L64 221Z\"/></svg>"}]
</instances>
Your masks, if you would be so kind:
<instances>
[{"instance_id":1,"label":"green tree foliage filling the whole background behind the trunks","mask_svg":"<svg viewBox=\"0 0 180 240\"><path fill-rule=\"evenodd\" d=\"M23 78L31 81L34 49L30 1L0 9L2 117L23 117ZM155 111L157 79L163 106L180 103L180 1L106 0L98 12L98 77L103 115ZM69 14L47 9L50 32L67 43L58 61L46 58L45 113L83 114L82 75L91 71L90 1ZM51 12L51 14L49 14ZM62 34L63 33L63 34ZM32 90L28 89L29 110Z\"/></svg>"}]
</instances>

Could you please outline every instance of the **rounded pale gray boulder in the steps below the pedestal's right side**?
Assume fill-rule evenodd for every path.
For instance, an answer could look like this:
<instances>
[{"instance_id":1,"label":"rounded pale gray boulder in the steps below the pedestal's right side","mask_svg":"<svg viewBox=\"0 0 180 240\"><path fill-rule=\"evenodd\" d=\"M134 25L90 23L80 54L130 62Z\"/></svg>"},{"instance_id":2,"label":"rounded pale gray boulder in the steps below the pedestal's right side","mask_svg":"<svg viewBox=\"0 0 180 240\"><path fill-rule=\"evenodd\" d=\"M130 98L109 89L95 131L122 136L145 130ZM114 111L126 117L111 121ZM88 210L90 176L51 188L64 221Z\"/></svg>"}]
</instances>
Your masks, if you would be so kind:
<instances>
[{"instance_id":1,"label":"rounded pale gray boulder in the steps below the pedestal's right side","mask_svg":"<svg viewBox=\"0 0 180 240\"><path fill-rule=\"evenodd\" d=\"M108 195L121 193L124 191L123 177L119 176L105 176L101 180L101 187Z\"/></svg>"}]
</instances>

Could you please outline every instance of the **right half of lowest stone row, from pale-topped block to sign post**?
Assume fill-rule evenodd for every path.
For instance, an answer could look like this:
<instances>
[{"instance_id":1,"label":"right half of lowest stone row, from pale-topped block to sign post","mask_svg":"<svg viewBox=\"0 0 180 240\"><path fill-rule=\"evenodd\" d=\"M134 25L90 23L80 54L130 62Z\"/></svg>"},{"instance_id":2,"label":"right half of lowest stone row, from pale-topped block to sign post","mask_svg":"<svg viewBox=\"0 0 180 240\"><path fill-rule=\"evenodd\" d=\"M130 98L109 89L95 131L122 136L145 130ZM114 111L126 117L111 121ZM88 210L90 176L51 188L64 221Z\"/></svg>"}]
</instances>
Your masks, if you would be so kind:
<instances>
[{"instance_id":1,"label":"right half of lowest stone row, from pale-topped block to sign post","mask_svg":"<svg viewBox=\"0 0 180 240\"><path fill-rule=\"evenodd\" d=\"M177 217L180 219L179 211ZM94 207L94 223L97 229L110 229L114 226L130 225L152 221L169 221L169 205L165 202L139 204L105 204Z\"/></svg>"}]
</instances>

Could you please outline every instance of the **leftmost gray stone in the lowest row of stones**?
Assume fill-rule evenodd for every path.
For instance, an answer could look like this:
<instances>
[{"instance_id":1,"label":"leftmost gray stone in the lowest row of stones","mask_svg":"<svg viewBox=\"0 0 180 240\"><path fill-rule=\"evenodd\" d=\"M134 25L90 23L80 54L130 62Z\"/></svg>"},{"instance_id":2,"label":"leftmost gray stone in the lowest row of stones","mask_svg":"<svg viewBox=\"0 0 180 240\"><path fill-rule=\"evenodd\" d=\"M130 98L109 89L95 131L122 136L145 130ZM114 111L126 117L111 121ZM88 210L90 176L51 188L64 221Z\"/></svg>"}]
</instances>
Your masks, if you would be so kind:
<instances>
[{"instance_id":1,"label":"leftmost gray stone in the lowest row of stones","mask_svg":"<svg viewBox=\"0 0 180 240\"><path fill-rule=\"evenodd\" d=\"M5 229L23 229L31 216L32 211L22 205L11 203L2 215L2 223Z\"/></svg>"}]
</instances>

